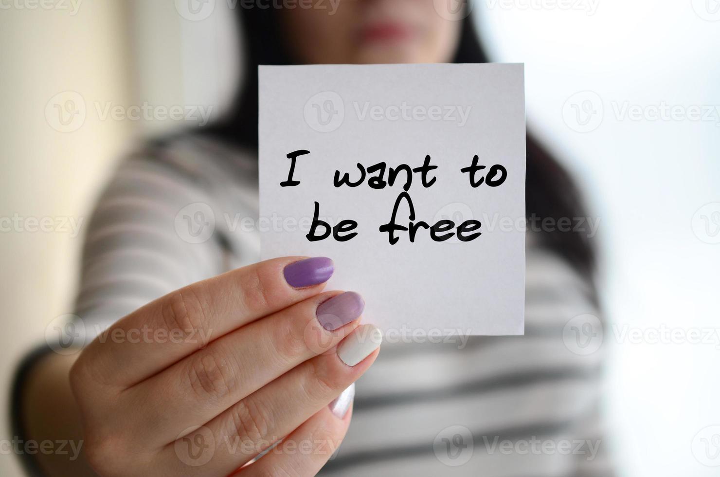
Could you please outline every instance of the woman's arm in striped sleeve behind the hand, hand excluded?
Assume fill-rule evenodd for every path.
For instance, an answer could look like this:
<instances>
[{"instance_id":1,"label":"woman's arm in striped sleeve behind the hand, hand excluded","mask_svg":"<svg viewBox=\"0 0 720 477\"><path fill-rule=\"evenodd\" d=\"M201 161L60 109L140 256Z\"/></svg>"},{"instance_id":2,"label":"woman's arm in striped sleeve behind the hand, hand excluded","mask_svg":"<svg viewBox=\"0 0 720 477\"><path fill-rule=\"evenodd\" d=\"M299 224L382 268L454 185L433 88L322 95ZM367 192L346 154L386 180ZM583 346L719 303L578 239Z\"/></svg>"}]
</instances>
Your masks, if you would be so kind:
<instances>
[{"instance_id":1,"label":"woman's arm in striped sleeve behind the hand, hand excluded","mask_svg":"<svg viewBox=\"0 0 720 477\"><path fill-rule=\"evenodd\" d=\"M193 202L212 203L181 171L143 157L121 164L86 235L76 314L87 339L78 344L89 343L145 303L223 271L217 241L191 244L176 229L176 214ZM21 456L42 475L94 475L82 452L80 417L68 380L78 353L60 355L45 348L27 360L17 379L13 418L19 437L68 442L67 454ZM79 456L70 444L79 447Z\"/></svg>"}]
</instances>

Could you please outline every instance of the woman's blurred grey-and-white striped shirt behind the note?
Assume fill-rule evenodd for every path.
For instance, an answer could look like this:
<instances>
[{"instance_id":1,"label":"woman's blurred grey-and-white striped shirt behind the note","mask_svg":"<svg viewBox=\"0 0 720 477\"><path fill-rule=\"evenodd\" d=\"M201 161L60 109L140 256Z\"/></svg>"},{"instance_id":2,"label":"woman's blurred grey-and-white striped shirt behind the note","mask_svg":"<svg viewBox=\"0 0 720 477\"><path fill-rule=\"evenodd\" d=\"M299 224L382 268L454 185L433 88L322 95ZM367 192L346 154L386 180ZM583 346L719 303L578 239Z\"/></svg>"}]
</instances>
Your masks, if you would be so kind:
<instances>
[{"instance_id":1,"label":"woman's blurred grey-and-white striped shirt behind the note","mask_svg":"<svg viewBox=\"0 0 720 477\"><path fill-rule=\"evenodd\" d=\"M194 136L122 161L84 246L76 314L86 329L256 262L257 177L254 153ZM196 240L182 220L213 233ZM598 314L593 289L529 233L526 257L525 336L384 342L321 475L611 475L598 419L603 353L579 353L564 334L571 318Z\"/></svg>"}]
</instances>

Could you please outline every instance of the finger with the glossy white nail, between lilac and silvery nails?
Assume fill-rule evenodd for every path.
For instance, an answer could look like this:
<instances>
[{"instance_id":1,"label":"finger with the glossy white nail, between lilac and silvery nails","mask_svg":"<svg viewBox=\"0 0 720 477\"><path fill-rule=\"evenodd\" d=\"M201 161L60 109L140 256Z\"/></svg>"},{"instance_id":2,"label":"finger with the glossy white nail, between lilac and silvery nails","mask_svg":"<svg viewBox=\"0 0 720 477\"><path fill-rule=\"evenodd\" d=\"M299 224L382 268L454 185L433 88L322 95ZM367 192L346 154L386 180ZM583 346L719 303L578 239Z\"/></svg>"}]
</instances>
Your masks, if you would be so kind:
<instances>
[{"instance_id":1,"label":"finger with the glossy white nail, between lilac and silvery nails","mask_svg":"<svg viewBox=\"0 0 720 477\"><path fill-rule=\"evenodd\" d=\"M379 329L359 326L338 344L336 352L303 362L211 422L188 431L179 442L212 440L212 458L202 467L175 470L198 476L226 475L237 470L259 451L300 427L354 383L374 362L381 341ZM356 364L351 366L345 361ZM177 442L168 445L164 462L177 460Z\"/></svg>"}]
</instances>

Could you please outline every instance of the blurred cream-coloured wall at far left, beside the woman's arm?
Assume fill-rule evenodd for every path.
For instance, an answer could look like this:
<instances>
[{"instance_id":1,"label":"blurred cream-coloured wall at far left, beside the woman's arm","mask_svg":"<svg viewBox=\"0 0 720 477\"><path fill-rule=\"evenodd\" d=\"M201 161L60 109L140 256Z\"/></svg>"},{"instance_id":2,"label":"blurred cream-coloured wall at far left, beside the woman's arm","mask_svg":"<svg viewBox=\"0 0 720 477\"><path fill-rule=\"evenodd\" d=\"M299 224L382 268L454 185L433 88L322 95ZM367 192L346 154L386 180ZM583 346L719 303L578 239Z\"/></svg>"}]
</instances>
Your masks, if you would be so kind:
<instances>
[{"instance_id":1,"label":"blurred cream-coloured wall at far left, beside the woman's arm","mask_svg":"<svg viewBox=\"0 0 720 477\"><path fill-rule=\"evenodd\" d=\"M6 390L17 360L44 340L45 324L68 313L73 296L80 239L55 220L87 215L132 130L88 115L81 128L62 133L45 116L62 92L129 101L125 4L84 2L74 15L7 5L0 9L0 217L18 220L0 233L1 439L10 438ZM59 230L30 231L39 227L33 218L46 217ZM20 475L14 455L0 455L0 474Z\"/></svg>"}]
</instances>

